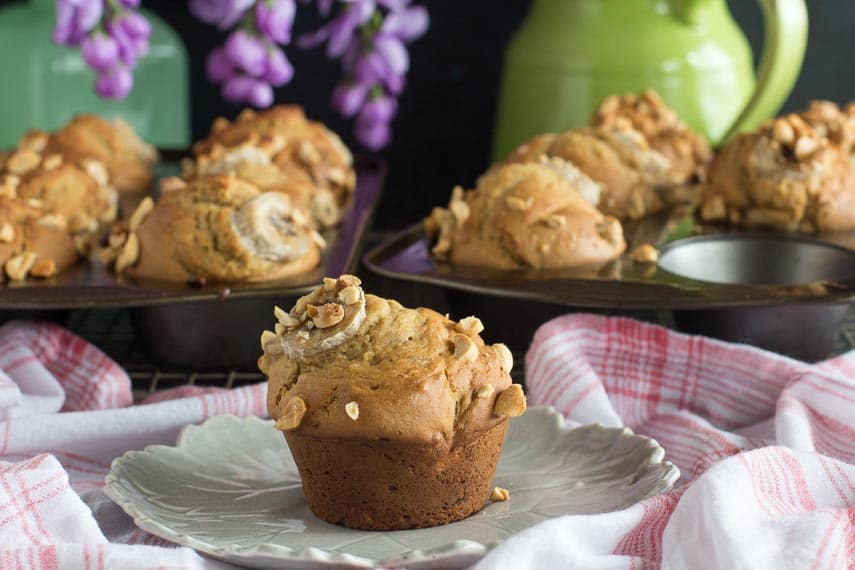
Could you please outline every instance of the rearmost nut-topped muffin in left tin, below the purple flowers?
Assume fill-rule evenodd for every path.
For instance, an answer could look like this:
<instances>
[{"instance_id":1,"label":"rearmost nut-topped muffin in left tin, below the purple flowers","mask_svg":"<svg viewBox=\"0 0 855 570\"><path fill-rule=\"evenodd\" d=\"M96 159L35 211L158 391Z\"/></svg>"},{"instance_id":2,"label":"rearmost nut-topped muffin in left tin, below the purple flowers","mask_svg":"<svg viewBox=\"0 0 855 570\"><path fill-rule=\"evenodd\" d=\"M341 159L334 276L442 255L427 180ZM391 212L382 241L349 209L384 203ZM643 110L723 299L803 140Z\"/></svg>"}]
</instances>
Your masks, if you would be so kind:
<instances>
[{"instance_id":1,"label":"rearmost nut-topped muffin in left tin, below the purple flowers","mask_svg":"<svg viewBox=\"0 0 855 570\"><path fill-rule=\"evenodd\" d=\"M338 135L307 119L296 105L277 105L261 112L246 109L234 122L217 119L210 136L193 146L193 154L197 161L217 162L223 149L246 145L272 148L270 159L290 180L298 179L298 173L302 173L322 193L331 192L339 209L333 223L339 221L340 209L356 186L356 174L353 157ZM261 157L264 152L248 154L249 161L266 162ZM233 164L236 162L232 159Z\"/></svg>"}]
</instances>

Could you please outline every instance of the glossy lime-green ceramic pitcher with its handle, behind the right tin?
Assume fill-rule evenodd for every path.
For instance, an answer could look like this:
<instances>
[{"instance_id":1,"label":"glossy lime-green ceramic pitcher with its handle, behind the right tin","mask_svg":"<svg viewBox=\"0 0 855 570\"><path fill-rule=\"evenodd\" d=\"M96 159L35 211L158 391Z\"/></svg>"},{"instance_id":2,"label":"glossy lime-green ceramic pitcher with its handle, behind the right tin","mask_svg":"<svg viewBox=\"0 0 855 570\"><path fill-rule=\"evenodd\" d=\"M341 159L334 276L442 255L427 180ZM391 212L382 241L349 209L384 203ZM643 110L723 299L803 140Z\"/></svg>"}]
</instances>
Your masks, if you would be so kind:
<instances>
[{"instance_id":1,"label":"glossy lime-green ceramic pitcher with its handle, behind the right tin","mask_svg":"<svg viewBox=\"0 0 855 570\"><path fill-rule=\"evenodd\" d=\"M587 124L606 96L655 89L715 143L781 107L807 45L803 0L759 0L751 49L726 0L533 0L505 54L494 159L538 133Z\"/></svg>"}]
</instances>

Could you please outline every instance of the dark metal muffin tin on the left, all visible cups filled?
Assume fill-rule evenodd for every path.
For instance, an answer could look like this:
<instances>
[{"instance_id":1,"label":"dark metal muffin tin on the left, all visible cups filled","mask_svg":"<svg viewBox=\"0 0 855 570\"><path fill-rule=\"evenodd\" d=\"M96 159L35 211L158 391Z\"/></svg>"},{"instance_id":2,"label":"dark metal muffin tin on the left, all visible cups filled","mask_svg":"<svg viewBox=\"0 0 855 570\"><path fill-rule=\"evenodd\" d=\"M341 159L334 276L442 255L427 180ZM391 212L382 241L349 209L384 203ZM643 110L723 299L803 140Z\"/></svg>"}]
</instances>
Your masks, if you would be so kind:
<instances>
[{"instance_id":1,"label":"dark metal muffin tin on the left, all visible cups filled","mask_svg":"<svg viewBox=\"0 0 855 570\"><path fill-rule=\"evenodd\" d=\"M24 317L66 309L128 307L142 346L162 365L248 369L259 336L273 325L273 305L290 306L325 275L352 272L386 175L380 161L359 159L357 187L342 223L323 232L329 244L318 267L262 283L192 285L116 277L83 261L47 280L0 286L0 315Z\"/></svg>"}]
</instances>

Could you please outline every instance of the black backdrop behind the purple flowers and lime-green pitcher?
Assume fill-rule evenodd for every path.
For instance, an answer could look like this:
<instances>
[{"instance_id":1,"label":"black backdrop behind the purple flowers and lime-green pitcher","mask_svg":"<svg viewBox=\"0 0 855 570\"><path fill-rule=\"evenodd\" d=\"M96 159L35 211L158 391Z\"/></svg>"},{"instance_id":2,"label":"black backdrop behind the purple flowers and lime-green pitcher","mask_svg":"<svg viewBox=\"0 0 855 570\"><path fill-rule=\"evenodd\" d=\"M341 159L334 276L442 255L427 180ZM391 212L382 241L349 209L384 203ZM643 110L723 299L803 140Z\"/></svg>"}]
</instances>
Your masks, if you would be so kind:
<instances>
[{"instance_id":1,"label":"black backdrop behind the purple flowers and lime-green pitcher","mask_svg":"<svg viewBox=\"0 0 855 570\"><path fill-rule=\"evenodd\" d=\"M0 6L10 0L0 0ZM571 0L567 0L571 1ZM641 1L641 0L639 0ZM412 70L401 99L395 140L384 153L390 175L377 225L400 227L447 200L455 184L472 184L487 165L502 53L525 16L530 0L424 0L431 14L428 34L411 47ZM207 133L218 115L238 109L225 103L204 75L204 61L223 37L197 22L182 0L144 0L185 38L191 58L193 136ZM755 53L762 42L757 2L731 0L737 21ZM809 0L810 40L804 68L786 109L814 98L855 100L855 2ZM303 8L297 30L312 22ZM308 21L307 21L308 20ZM631 49L631 46L627 46ZM288 50L297 75L277 93L279 102L296 102L353 145L350 125L329 108L329 92L338 77L337 64L319 50Z\"/></svg>"}]
</instances>

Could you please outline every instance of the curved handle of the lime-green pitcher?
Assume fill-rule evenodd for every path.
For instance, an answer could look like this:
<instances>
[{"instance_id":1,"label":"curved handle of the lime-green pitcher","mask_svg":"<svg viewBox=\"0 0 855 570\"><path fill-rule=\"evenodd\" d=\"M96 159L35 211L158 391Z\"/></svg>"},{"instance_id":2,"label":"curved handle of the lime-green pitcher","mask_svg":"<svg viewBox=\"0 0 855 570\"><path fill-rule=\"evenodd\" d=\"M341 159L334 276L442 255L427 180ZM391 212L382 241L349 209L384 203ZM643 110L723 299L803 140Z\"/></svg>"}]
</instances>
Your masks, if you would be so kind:
<instances>
[{"instance_id":1,"label":"curved handle of the lime-green pitcher","mask_svg":"<svg viewBox=\"0 0 855 570\"><path fill-rule=\"evenodd\" d=\"M763 10L764 46L757 71L757 87L745 108L722 139L727 142L774 116L799 77L808 36L804 0L759 0Z\"/></svg>"}]
</instances>

